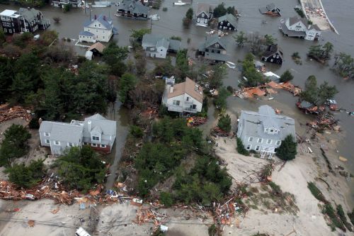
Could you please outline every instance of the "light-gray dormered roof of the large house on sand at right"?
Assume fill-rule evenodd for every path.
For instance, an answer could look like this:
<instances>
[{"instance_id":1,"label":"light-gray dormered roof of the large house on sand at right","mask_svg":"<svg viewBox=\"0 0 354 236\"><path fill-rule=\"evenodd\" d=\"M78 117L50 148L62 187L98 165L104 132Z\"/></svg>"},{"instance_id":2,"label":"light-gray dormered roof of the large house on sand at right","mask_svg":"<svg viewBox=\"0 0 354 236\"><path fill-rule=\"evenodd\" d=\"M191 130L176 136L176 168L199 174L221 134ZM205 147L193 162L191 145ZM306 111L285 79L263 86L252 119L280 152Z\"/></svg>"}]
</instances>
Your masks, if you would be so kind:
<instances>
[{"instance_id":1,"label":"light-gray dormered roof of the large house on sand at right","mask_svg":"<svg viewBox=\"0 0 354 236\"><path fill-rule=\"evenodd\" d=\"M295 120L288 116L275 114L272 107L268 105L260 106L258 112L241 111L239 118L241 125L241 137L261 137L272 140L284 140L287 135L295 138ZM264 133L264 128L277 128L279 133Z\"/></svg>"}]
</instances>

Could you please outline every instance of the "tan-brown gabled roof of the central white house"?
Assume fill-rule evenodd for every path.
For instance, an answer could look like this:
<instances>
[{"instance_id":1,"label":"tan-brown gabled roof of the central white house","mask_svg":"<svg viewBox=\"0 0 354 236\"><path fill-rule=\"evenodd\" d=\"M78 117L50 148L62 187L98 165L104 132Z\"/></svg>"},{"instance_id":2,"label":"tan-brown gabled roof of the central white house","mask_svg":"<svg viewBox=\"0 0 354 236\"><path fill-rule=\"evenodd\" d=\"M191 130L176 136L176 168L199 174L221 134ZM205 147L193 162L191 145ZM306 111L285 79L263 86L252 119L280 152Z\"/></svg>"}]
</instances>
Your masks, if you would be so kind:
<instances>
[{"instance_id":1,"label":"tan-brown gabled roof of the central white house","mask_svg":"<svg viewBox=\"0 0 354 236\"><path fill-rule=\"evenodd\" d=\"M169 91L167 92L168 99L171 99L175 96L180 96L182 94L188 94L189 96L193 97L193 99L202 103L202 87L188 77L185 78L185 82L174 84L172 93Z\"/></svg>"}]
</instances>

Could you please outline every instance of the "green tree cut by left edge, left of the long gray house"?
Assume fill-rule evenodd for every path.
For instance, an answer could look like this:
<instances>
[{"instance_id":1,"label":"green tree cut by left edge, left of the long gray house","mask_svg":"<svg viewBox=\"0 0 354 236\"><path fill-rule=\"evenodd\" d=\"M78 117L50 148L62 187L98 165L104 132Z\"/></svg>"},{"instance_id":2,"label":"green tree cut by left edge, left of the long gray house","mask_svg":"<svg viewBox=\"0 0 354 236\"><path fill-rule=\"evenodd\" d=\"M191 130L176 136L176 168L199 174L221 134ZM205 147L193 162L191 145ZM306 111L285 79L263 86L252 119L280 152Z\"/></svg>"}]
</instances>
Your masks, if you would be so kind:
<instances>
[{"instance_id":1,"label":"green tree cut by left edge, left of the long gray house","mask_svg":"<svg viewBox=\"0 0 354 236\"><path fill-rule=\"evenodd\" d=\"M22 125L11 125L4 132L4 140L0 147L0 166L11 166L18 157L28 152L30 133Z\"/></svg>"}]
</instances>

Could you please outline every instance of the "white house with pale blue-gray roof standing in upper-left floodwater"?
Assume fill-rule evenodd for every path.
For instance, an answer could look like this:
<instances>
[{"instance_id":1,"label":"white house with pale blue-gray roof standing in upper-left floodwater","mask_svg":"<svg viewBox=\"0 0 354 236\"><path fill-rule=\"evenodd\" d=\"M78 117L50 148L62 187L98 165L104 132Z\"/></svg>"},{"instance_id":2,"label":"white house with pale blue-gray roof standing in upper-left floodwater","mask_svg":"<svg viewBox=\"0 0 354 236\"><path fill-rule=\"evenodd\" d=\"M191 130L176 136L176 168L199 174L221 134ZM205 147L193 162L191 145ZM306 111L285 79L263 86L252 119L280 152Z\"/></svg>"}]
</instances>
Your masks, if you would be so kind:
<instances>
[{"instance_id":1,"label":"white house with pale blue-gray roof standing in upper-left floodwater","mask_svg":"<svg viewBox=\"0 0 354 236\"><path fill-rule=\"evenodd\" d=\"M79 40L89 43L108 42L116 33L117 30L114 28L111 18L95 15L91 20L84 23L84 30L79 33Z\"/></svg>"}]
</instances>

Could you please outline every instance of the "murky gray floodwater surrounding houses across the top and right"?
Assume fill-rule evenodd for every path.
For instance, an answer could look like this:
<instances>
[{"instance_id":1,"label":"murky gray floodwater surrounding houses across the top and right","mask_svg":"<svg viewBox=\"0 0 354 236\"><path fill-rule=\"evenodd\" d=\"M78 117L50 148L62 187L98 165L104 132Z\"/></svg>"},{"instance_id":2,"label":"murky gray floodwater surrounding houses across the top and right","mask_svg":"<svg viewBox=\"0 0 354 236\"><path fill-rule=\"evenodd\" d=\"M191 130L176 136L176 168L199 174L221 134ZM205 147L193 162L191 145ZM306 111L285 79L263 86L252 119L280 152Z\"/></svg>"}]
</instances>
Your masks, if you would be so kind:
<instances>
[{"instance_id":1,"label":"murky gray floodwater surrounding houses across the top and right","mask_svg":"<svg viewBox=\"0 0 354 236\"><path fill-rule=\"evenodd\" d=\"M200 0L200 2L217 5L222 1ZM273 0L273 2L282 10L282 18L297 15L297 13L293 10L294 6L299 4L297 0ZM209 28L202 28L194 25L191 25L190 28L187 29L182 26L182 18L185 16L185 12L189 7L193 7L195 10L197 3L198 1L194 1L192 6L173 6L173 0L164 0L161 9L163 7L167 7L168 11L156 11L154 9L150 11L150 14L158 13L160 16L160 21L134 21L126 18L118 18L114 15L116 11L115 6L105 9L92 9L91 16L102 13L113 18L114 25L118 28L119 33L118 35L114 35L113 40L117 41L119 45L129 45L130 30L152 27L152 33L155 34L166 35L167 37L172 35L180 36L183 39L182 46L188 47L189 55L193 56L193 50L198 48L198 45L200 45L200 43L202 43L205 39L205 32L210 30ZM292 74L295 76L293 83L299 86L304 86L304 82L307 77L314 74L319 83L327 81L331 85L336 85L339 91L339 94L336 95L336 100L338 101L339 106L346 108L348 111L354 111L354 81L345 81L334 74L331 71L333 60L329 62L330 66L326 67L318 62L309 61L306 59L309 46L319 43L324 44L327 41L333 43L335 53L346 52L351 54L352 57L354 56L353 1L322 1L327 15L340 34L337 35L332 31L322 32L321 40L319 40L319 42L310 42L307 40L286 38L283 36L278 30L280 18L272 18L259 13L258 8L268 4L264 1L224 0L224 3L226 6L235 6L241 14L238 25L239 30L243 30L246 33L259 32L261 35L269 34L278 39L278 44L282 47L284 53L285 62L282 64L282 67L276 67L268 64L268 67L273 70L273 72L276 74L282 74L282 72L286 69L291 69ZM11 5L0 5L0 10L2 11L3 9L8 9L10 7ZM12 7L17 9L17 6ZM52 26L50 26L51 30L57 30L60 38L78 38L79 31L83 30L83 23L89 19L90 15L89 9L86 9L86 13L84 9L72 9L69 13L62 13L62 10L59 8L46 6L41 11L44 13L46 18L52 19L55 16L62 18L60 23L55 24L52 22ZM267 21L266 24L262 24L262 21L264 20ZM187 43L188 38L190 38L190 43ZM236 63L238 60L242 60L246 52L248 52L247 46L239 49L236 47L232 35L228 35L226 38L229 41L227 45L227 55L229 56L229 61ZM83 49L81 49L81 51L84 52ZM291 55L293 52L299 52L299 55L302 57L302 65L297 65L292 61ZM229 76L224 80L224 85L236 87L238 84L238 79L240 79L239 72L229 69ZM290 108L291 112L288 115L293 115L295 118L305 118L302 113L297 111L297 108L295 107L296 99L292 97L292 95L280 92L275 95L275 100L273 101L275 103L279 103L279 101L281 101L281 104L278 104L279 106L287 106ZM272 104L271 101L268 101L268 103L270 105ZM235 112L238 111L237 108L249 108L256 110L260 104L261 103L256 103L255 101L247 101L235 97L230 97L228 99L229 109ZM118 123L122 122L122 119L127 119L126 110L119 110L119 112L115 111L115 114L117 115L115 117L116 120L118 120ZM345 136L343 142L341 142L338 146L338 155L349 159L347 164L353 173L354 155L351 147L353 141L350 140L354 140L354 117L350 117L346 113L336 113L336 118L340 120L340 125L344 130L343 135ZM125 138L123 138L125 136L120 132L122 131L120 130L119 124L116 140L118 147L116 147L116 150L120 150L120 147L122 147L125 142ZM125 130L124 132L126 133L127 131Z\"/></svg>"}]
</instances>

